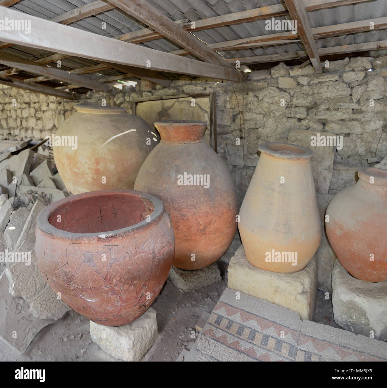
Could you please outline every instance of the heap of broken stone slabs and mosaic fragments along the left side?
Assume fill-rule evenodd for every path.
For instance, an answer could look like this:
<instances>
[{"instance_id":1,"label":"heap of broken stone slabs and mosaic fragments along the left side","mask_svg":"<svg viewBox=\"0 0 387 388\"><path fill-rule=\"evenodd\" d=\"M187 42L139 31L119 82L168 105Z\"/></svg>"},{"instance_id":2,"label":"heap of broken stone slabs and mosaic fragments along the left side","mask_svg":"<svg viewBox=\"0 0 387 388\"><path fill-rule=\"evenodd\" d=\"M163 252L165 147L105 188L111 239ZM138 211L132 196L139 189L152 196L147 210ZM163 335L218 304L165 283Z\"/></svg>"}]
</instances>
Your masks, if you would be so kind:
<instances>
[{"instance_id":1,"label":"heap of broken stone slabs and mosaic fragments along the left side","mask_svg":"<svg viewBox=\"0 0 387 388\"><path fill-rule=\"evenodd\" d=\"M0 161L0 291L2 311L7 312L0 339L21 353L44 326L69 310L42 278L35 257L38 214L69 193L47 158L31 168L35 155L49 156L48 149L40 146L34 152L26 146L0 142L0 160L7 156Z\"/></svg>"}]
</instances>

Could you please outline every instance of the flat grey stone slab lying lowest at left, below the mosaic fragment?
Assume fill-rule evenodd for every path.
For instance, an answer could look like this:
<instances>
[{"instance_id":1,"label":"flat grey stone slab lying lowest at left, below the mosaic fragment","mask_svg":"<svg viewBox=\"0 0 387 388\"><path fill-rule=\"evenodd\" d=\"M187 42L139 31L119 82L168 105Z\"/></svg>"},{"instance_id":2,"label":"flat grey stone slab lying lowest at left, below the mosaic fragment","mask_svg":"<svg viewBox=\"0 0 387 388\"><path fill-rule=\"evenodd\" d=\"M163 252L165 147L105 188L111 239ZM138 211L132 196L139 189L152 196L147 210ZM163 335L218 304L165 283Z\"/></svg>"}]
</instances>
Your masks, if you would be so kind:
<instances>
[{"instance_id":1,"label":"flat grey stone slab lying lowest at left, below the mosaic fragment","mask_svg":"<svg viewBox=\"0 0 387 388\"><path fill-rule=\"evenodd\" d=\"M0 276L0 339L20 353L24 353L43 327L55 322L35 318L23 298L8 293L7 277Z\"/></svg>"}]
</instances>

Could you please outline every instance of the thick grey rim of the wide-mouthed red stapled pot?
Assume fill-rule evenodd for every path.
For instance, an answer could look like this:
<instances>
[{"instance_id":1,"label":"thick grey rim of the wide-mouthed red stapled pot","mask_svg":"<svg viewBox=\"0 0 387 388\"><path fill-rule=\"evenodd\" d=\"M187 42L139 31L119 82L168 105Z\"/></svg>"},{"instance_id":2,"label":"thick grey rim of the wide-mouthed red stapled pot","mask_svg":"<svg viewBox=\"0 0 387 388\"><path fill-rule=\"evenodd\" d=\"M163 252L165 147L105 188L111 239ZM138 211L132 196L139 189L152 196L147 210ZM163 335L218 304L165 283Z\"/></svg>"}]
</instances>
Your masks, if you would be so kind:
<instances>
[{"instance_id":1,"label":"thick grey rim of the wide-mouthed red stapled pot","mask_svg":"<svg viewBox=\"0 0 387 388\"><path fill-rule=\"evenodd\" d=\"M98 194L97 194L98 193ZM153 206L154 210L152 214L150 215L150 221L143 220L139 223L135 223L134 225L128 226L126 228L122 229L116 229L116 230L108 230L106 232L95 232L95 233L74 233L74 232L67 232L66 230L58 229L51 225L49 222L49 217L51 216L54 211L56 211L60 206L63 204L70 204L71 202L78 200L78 199L87 199L89 197L95 197L97 195L105 195L105 194L112 194L112 193L122 193L122 194L132 194L135 196L138 196L140 198L147 199L150 201ZM63 237L66 239L95 239L98 236L104 235L104 237L101 237L102 239L107 239L111 237L118 236L125 232L131 232L132 230L142 230L149 229L150 225L157 224L161 217L164 214L164 204L161 202L161 200L153 195L146 194L142 191L137 190L98 190L98 191L89 191L81 194L76 194L70 197L59 199L58 201L53 202L52 204L49 204L46 206L37 217L37 228L47 234L51 234L55 237Z\"/></svg>"}]
</instances>

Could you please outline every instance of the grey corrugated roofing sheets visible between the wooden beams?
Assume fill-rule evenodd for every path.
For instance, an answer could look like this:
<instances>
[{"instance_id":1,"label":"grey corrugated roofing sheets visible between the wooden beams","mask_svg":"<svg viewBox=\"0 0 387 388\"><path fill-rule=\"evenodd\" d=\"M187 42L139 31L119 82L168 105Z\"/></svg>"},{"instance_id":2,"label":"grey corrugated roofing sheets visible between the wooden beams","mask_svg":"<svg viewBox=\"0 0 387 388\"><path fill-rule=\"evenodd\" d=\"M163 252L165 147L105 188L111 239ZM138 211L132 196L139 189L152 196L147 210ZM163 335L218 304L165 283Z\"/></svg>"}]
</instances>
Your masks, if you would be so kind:
<instances>
[{"instance_id":1,"label":"grey corrugated roofing sheets visible between the wooden beams","mask_svg":"<svg viewBox=\"0 0 387 388\"><path fill-rule=\"evenodd\" d=\"M91 3L92 1L93 0L22 0L21 2L14 4L12 8L33 16L42 17L44 19L52 19L58 15L68 12L71 9L80 7L86 3ZM197 21L208 17L220 16L281 3L280 0L149 0L148 2L159 9L161 13L175 21L183 19L188 19L188 21ZM316 10L308 12L307 16L312 28L384 17L387 16L387 1L372 0L353 5ZM281 16L277 18L289 19L289 16ZM106 29L102 29L102 22L106 23ZM72 23L71 26L99 35L111 37L128 33L130 31L136 31L141 28L146 28L143 23L118 9L112 9L97 16L87 17L82 21ZM205 43L217 43L228 40L268 35L271 33L273 33L273 31L267 31L265 29L265 20L258 20L207 29L204 31L197 31L195 32L195 35ZM322 48L386 39L387 30L381 30L319 39L316 42L316 45L318 48ZM166 38L140 43L140 45L164 52L180 49L176 43L173 43ZM14 46L13 48L25 51L25 48L22 49L17 46ZM226 58L238 58L255 55L279 54L301 49L302 45L299 43L292 43L289 45L273 45L246 50L225 50L221 51L221 54ZM80 67L82 67L87 66L82 65L82 63L92 64L95 62L81 59L71 59L66 61L66 63L68 63L69 67L76 68L80 63ZM171 74L169 74L169 76L171 76Z\"/></svg>"}]
</instances>

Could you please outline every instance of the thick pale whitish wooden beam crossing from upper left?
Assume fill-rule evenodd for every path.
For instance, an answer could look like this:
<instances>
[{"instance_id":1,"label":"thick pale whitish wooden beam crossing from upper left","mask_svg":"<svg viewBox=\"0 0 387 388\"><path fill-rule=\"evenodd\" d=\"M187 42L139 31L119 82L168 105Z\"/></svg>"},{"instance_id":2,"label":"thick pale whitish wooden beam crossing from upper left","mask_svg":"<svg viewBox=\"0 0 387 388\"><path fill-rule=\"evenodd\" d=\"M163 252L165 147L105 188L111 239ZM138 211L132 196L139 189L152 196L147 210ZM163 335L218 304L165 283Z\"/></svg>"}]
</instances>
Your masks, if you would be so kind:
<instances>
[{"instance_id":1,"label":"thick pale whitish wooden beam crossing from upper left","mask_svg":"<svg viewBox=\"0 0 387 388\"><path fill-rule=\"evenodd\" d=\"M25 14L22 12L10 8L4 8L2 12L9 19L21 20L25 17ZM156 71L205 76L229 81L242 81L246 78L246 74L235 70L232 66L227 68L196 61L195 59L179 57L132 43L121 42L106 36L96 35L78 28L53 23L35 16L29 16L29 19L31 19L32 26L30 34L26 35L23 31L1 30L0 38L7 42L38 49ZM36 65L35 62L33 63ZM12 67L17 66L12 65ZM80 77L74 74L68 74L68 76ZM80 85L78 82L72 83ZM90 88L90 86L86 87Z\"/></svg>"}]
</instances>

